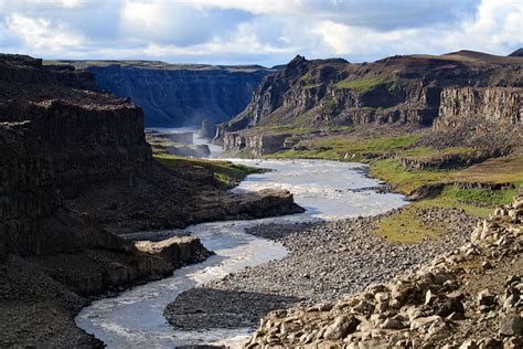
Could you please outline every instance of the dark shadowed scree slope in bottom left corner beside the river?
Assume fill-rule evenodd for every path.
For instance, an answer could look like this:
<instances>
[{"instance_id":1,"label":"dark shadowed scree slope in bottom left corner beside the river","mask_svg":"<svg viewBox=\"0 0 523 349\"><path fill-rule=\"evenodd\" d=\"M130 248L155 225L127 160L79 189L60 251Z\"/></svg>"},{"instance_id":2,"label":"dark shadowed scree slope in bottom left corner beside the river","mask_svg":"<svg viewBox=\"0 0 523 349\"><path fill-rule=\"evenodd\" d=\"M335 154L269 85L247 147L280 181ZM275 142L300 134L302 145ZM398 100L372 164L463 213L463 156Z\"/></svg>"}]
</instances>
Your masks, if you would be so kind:
<instances>
[{"instance_id":1,"label":"dark shadowed scree slope in bottom left corner beside the river","mask_svg":"<svg viewBox=\"0 0 523 349\"><path fill-rule=\"evenodd\" d=\"M38 264L9 256L0 265L0 348L103 348L74 324L86 303Z\"/></svg>"}]
</instances>

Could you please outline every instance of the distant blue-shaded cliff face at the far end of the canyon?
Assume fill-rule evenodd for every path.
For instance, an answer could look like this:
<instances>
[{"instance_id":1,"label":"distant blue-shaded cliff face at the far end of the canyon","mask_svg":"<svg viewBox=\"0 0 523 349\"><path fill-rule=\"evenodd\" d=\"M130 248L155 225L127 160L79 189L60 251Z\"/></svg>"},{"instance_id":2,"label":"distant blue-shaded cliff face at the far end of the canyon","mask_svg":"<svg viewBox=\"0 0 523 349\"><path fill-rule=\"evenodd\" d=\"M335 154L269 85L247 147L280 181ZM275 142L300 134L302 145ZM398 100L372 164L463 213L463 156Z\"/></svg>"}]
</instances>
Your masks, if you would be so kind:
<instances>
[{"instance_id":1,"label":"distant blue-shaded cliff face at the far end of the canyon","mask_svg":"<svg viewBox=\"0 0 523 349\"><path fill-rule=\"evenodd\" d=\"M143 108L147 126L223 123L242 112L262 80L262 66L90 65L99 86L131 97Z\"/></svg>"}]
</instances>

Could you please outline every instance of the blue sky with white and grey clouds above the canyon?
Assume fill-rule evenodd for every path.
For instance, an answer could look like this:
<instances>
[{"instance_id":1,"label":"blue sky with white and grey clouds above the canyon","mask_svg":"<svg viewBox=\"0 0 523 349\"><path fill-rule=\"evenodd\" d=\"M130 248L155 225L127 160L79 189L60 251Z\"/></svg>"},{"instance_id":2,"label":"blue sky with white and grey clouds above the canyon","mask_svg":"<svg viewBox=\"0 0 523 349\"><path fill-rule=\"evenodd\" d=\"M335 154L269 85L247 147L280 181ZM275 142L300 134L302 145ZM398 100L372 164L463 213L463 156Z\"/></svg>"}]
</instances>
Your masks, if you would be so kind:
<instances>
[{"instance_id":1,"label":"blue sky with white and grey clouds above the canyon","mask_svg":"<svg viewBox=\"0 0 523 349\"><path fill-rule=\"evenodd\" d=\"M522 42L521 0L0 0L0 52L43 59L273 66Z\"/></svg>"}]
</instances>

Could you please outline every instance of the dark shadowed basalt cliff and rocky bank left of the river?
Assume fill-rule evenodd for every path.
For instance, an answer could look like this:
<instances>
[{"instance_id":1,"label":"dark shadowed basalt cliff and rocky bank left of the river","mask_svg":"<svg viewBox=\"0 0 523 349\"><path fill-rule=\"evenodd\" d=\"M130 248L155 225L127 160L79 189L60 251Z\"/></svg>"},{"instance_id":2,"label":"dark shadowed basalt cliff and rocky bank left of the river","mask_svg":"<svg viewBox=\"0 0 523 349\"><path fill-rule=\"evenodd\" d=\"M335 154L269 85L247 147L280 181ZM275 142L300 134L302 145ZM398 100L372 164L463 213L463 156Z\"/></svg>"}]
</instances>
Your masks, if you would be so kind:
<instances>
[{"instance_id":1,"label":"dark shadowed basalt cliff and rocky bank left of the river","mask_svg":"<svg viewBox=\"0 0 523 349\"><path fill-rule=\"evenodd\" d=\"M211 254L117 233L300 210L288 192L233 194L209 169L160 165L140 107L29 56L0 55L0 151L1 347L100 346L74 326L84 297Z\"/></svg>"}]
</instances>

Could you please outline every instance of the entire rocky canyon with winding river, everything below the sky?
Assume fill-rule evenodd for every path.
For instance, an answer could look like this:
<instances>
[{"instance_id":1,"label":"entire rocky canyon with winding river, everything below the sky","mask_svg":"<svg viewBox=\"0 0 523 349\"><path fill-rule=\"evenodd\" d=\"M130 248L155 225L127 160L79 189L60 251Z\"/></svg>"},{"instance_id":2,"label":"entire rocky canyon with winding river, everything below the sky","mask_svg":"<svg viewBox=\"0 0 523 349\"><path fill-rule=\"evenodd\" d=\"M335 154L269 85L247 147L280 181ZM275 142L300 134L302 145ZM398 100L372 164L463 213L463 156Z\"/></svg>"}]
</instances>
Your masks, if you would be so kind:
<instances>
[{"instance_id":1,"label":"entire rocky canyon with winding river, everything below the sky","mask_svg":"<svg viewBox=\"0 0 523 349\"><path fill-rule=\"evenodd\" d=\"M244 346L521 345L522 60L0 55L0 346L222 343L260 317ZM145 131L201 121L253 160ZM455 297L490 269L498 303Z\"/></svg>"}]
</instances>

